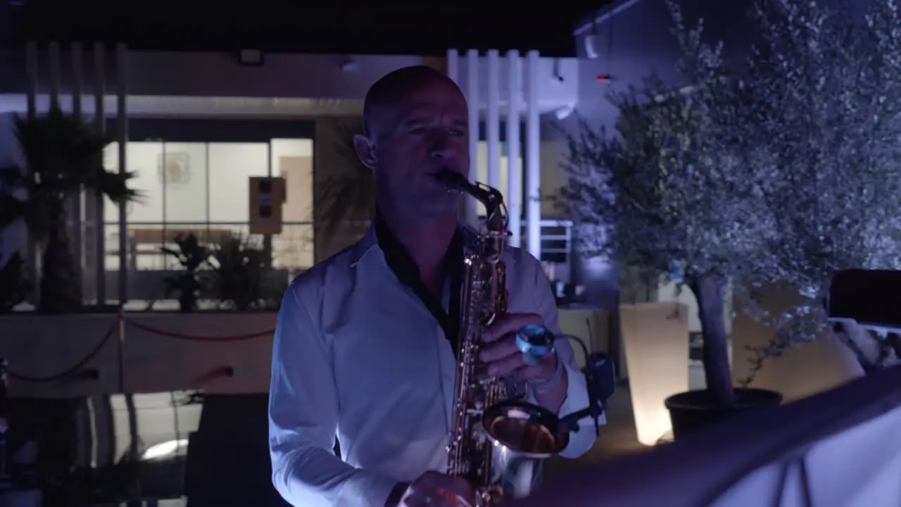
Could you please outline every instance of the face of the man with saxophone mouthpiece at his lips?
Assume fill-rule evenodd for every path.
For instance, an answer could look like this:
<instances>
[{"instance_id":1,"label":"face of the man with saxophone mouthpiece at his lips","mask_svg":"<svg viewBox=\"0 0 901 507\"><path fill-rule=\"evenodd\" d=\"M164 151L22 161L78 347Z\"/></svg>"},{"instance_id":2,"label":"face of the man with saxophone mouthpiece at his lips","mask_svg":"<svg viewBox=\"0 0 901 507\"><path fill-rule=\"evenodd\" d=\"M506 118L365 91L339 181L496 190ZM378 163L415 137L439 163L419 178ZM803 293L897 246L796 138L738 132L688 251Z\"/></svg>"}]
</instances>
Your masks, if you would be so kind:
<instances>
[{"instance_id":1,"label":"face of the man with saxophone mouthpiece at his lips","mask_svg":"<svg viewBox=\"0 0 901 507\"><path fill-rule=\"evenodd\" d=\"M469 176L466 99L435 79L385 108L373 133L379 206L407 217L456 216L459 196L434 179L441 170Z\"/></svg>"}]
</instances>

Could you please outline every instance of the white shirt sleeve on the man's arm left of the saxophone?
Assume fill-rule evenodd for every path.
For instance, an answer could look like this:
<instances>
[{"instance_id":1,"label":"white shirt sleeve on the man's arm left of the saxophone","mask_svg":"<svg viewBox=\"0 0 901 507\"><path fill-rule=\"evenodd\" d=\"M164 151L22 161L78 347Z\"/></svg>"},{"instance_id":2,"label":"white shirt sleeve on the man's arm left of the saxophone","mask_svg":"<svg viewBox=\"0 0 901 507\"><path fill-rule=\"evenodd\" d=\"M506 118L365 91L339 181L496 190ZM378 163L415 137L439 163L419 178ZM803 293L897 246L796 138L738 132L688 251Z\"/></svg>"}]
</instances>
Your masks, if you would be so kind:
<instances>
[{"instance_id":1,"label":"white shirt sleeve on the man's arm left of the saxophone","mask_svg":"<svg viewBox=\"0 0 901 507\"><path fill-rule=\"evenodd\" d=\"M338 395L328 347L292 284L278 312L269 385L272 483L291 505L383 507L396 481L334 456Z\"/></svg>"}]
</instances>

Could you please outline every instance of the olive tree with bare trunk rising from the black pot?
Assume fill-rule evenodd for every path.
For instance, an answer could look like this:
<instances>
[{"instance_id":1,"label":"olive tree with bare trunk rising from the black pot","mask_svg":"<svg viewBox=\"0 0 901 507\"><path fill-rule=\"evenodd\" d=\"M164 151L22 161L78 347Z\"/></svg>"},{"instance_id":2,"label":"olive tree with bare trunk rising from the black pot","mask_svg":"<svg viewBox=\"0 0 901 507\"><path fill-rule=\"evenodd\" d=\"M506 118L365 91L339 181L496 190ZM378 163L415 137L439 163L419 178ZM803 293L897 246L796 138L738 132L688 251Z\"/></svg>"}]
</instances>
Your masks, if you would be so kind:
<instances>
[{"instance_id":1,"label":"olive tree with bare trunk rising from the black pot","mask_svg":"<svg viewBox=\"0 0 901 507\"><path fill-rule=\"evenodd\" d=\"M734 401L725 297L744 278L775 229L749 175L748 156L734 151L733 122L746 107L730 78L722 46L706 45L703 23L687 30L670 5L689 86L673 91L658 78L613 94L614 129L582 123L569 138L569 183L561 202L579 224L607 234L582 244L636 266L653 283L669 277L691 290L704 338L707 389L721 406Z\"/></svg>"}]
</instances>

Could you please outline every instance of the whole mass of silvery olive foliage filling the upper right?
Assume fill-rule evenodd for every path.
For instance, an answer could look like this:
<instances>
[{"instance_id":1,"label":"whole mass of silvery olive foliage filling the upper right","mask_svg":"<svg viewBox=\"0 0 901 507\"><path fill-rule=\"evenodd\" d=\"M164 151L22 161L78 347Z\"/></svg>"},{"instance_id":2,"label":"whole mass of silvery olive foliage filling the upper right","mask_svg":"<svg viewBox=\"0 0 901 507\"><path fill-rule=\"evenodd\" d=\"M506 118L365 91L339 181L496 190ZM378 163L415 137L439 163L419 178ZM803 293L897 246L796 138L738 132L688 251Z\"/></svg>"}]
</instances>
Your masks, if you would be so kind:
<instances>
[{"instance_id":1,"label":"whole mass of silvery olive foliage filling the upper right","mask_svg":"<svg viewBox=\"0 0 901 507\"><path fill-rule=\"evenodd\" d=\"M687 28L669 6L689 86L650 77L615 93L614 130L583 123L569 139L562 195L579 223L606 227L587 253L687 285L702 314L700 281L732 280L736 304L778 331L760 368L824 331L835 272L901 264L898 7L872 0L861 22L815 1L755 0L758 41L730 66L703 22ZM777 283L800 302L768 313L757 296ZM713 331L705 346L725 339ZM727 359L705 354L705 366Z\"/></svg>"}]
</instances>

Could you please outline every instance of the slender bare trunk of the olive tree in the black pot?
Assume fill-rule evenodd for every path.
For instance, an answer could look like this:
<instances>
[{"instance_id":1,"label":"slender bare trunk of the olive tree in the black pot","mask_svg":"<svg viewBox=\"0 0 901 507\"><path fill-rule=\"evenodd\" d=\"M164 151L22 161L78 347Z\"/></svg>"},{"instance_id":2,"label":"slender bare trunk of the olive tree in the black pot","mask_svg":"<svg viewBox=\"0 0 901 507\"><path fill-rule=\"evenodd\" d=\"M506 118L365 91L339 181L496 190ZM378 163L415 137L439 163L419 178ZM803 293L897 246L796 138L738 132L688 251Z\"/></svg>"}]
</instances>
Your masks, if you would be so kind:
<instances>
[{"instance_id":1,"label":"slender bare trunk of the olive tree in the black pot","mask_svg":"<svg viewBox=\"0 0 901 507\"><path fill-rule=\"evenodd\" d=\"M724 315L726 281L720 276L703 275L690 281L688 286L695 293L701 320L707 391L713 394L718 405L731 406L735 402L735 391Z\"/></svg>"}]
</instances>

